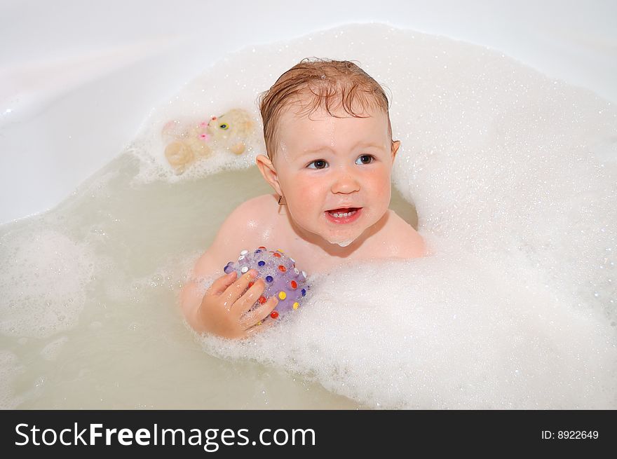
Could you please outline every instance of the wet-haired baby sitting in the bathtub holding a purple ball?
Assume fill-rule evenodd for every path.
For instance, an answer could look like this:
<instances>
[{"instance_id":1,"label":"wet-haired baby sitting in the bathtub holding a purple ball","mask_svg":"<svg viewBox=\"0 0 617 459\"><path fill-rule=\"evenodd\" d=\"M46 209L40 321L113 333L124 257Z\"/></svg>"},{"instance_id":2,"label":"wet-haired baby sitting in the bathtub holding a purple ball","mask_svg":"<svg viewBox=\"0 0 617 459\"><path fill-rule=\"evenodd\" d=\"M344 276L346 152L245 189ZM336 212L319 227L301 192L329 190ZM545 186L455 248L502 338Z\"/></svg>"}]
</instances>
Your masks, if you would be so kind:
<instances>
[{"instance_id":1,"label":"wet-haired baby sitting in the bathtub holding a purple ball","mask_svg":"<svg viewBox=\"0 0 617 459\"><path fill-rule=\"evenodd\" d=\"M252 308L264 292L255 270L222 275L200 293L200 278L221 273L242 249L280 248L308 273L425 251L414 228L388 209L400 141L392 140L388 99L373 78L352 62L305 59L259 102L268 156L257 156L257 166L276 193L231 212L181 295L191 327L225 338L264 329L278 303L272 297Z\"/></svg>"}]
</instances>

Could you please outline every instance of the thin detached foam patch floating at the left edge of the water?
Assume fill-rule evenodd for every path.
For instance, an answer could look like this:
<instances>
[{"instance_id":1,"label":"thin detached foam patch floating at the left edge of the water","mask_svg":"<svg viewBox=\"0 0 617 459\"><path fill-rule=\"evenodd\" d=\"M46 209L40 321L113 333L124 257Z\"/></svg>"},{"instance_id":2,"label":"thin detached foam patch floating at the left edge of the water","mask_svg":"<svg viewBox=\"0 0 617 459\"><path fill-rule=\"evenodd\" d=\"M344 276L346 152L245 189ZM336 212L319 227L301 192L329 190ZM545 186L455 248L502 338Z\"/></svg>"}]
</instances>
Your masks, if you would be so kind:
<instances>
[{"instance_id":1,"label":"thin detached foam patch floating at the left edge of the water","mask_svg":"<svg viewBox=\"0 0 617 459\"><path fill-rule=\"evenodd\" d=\"M85 242L33 227L0 238L0 258L11 261L0 275L0 333L8 336L46 338L72 329L94 273Z\"/></svg>"}]
</instances>

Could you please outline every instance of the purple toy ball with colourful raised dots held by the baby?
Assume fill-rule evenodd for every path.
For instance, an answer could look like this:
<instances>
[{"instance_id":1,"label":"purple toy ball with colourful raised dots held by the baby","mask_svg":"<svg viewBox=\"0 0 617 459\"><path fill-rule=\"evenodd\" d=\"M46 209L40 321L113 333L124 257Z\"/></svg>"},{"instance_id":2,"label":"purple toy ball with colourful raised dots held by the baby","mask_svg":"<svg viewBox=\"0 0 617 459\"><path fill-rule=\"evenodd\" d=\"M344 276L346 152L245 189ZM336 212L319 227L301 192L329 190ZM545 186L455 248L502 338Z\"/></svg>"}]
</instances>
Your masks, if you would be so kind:
<instances>
[{"instance_id":1,"label":"purple toy ball with colourful raised dots held by the baby","mask_svg":"<svg viewBox=\"0 0 617 459\"><path fill-rule=\"evenodd\" d=\"M270 314L276 319L278 313L299 308L310 288L306 284L306 273L296 268L295 263L294 259L285 256L280 249L268 250L266 247L259 247L252 252L243 250L238 256L238 262L229 261L223 270L225 274L235 270L238 278L250 269L257 270L257 277L263 279L266 285L257 303L263 304L276 295L278 304ZM249 287L251 285L252 282Z\"/></svg>"}]
</instances>

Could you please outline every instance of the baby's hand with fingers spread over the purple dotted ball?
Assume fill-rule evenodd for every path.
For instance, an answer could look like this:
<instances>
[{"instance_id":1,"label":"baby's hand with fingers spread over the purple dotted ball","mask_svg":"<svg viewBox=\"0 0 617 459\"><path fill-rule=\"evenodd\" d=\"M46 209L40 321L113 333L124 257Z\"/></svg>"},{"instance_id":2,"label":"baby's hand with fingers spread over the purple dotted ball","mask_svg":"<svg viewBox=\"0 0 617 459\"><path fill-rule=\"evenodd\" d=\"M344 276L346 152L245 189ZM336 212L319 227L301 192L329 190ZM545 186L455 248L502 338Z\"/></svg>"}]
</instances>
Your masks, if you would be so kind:
<instances>
[{"instance_id":1,"label":"baby's hand with fingers spread over the purple dotted ball","mask_svg":"<svg viewBox=\"0 0 617 459\"><path fill-rule=\"evenodd\" d=\"M276 308L278 299L272 296L252 309L266 287L263 279L249 287L256 276L257 271L251 269L236 280L233 271L212 283L197 311L204 331L224 338L246 338L263 327L257 324Z\"/></svg>"}]
</instances>

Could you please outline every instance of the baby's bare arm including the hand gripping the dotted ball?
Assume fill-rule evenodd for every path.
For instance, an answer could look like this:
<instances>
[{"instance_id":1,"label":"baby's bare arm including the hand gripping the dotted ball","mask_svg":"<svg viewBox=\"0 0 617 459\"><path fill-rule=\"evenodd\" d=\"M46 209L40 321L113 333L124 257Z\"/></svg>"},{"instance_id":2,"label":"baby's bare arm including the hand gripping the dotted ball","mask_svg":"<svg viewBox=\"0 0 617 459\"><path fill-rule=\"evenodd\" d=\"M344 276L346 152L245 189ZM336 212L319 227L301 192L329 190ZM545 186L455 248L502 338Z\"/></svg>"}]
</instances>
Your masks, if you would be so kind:
<instances>
[{"instance_id":1,"label":"baby's bare arm including the hand gripping the dotted ball","mask_svg":"<svg viewBox=\"0 0 617 459\"><path fill-rule=\"evenodd\" d=\"M276 297L251 310L265 289L263 279L254 279L255 270L249 270L236 279L236 273L221 275L223 266L241 249L255 241L255 225L248 224L246 207L250 202L236 207L222 224L215 241L197 261L189 283L182 289L180 302L187 322L198 332L208 332L224 338L244 338L259 327L261 320L272 312L278 303ZM255 243L255 242L253 242ZM208 290L203 283L216 276ZM249 282L255 280L252 287Z\"/></svg>"}]
</instances>

